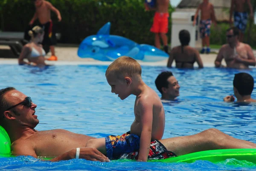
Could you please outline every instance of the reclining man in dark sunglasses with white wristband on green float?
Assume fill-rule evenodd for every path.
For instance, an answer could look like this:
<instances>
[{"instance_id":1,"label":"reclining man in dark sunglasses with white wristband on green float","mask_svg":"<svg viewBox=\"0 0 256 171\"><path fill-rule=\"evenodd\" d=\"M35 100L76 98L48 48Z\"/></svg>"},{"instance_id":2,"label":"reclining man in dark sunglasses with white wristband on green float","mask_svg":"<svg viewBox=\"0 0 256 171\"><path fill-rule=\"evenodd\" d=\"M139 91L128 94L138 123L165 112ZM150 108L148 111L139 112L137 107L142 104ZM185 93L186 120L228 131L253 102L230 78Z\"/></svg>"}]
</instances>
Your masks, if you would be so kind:
<instances>
[{"instance_id":1,"label":"reclining man in dark sunglasses with white wristband on green float","mask_svg":"<svg viewBox=\"0 0 256 171\"><path fill-rule=\"evenodd\" d=\"M84 148L87 141L94 137L63 129L35 130L39 123L35 115L36 107L30 97L13 87L0 90L0 125L9 134L13 155L54 157L50 161L75 158L109 161L95 148ZM214 128L195 135L159 141L165 150L172 151L176 156L215 149L256 148L255 143L235 139Z\"/></svg>"}]
</instances>

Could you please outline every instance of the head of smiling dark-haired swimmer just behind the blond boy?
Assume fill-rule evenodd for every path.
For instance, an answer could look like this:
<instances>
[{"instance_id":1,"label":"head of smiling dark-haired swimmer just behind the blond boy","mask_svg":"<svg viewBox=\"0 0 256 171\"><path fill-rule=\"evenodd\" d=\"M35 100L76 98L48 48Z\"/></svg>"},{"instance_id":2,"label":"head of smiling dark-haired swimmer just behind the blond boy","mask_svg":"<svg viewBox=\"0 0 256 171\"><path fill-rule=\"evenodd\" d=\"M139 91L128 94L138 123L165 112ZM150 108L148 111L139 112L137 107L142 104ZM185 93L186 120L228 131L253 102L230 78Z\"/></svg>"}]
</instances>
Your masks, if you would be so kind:
<instances>
[{"instance_id":1,"label":"head of smiling dark-haired swimmer just behind the blond boy","mask_svg":"<svg viewBox=\"0 0 256 171\"><path fill-rule=\"evenodd\" d=\"M180 96L180 85L175 76L172 75L172 72L161 72L157 76L155 84L157 90L161 93L161 99L163 100L174 101L177 96Z\"/></svg>"}]
</instances>

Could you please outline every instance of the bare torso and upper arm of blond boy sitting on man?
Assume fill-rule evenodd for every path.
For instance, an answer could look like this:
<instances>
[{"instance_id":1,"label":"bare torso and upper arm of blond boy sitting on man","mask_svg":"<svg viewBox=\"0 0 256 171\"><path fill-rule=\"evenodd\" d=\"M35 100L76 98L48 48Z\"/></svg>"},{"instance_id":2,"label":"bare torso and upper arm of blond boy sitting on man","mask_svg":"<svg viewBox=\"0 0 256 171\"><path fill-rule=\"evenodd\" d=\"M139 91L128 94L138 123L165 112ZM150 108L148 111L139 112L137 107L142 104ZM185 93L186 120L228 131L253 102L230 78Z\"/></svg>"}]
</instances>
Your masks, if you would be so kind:
<instances>
[{"instance_id":1,"label":"bare torso and upper arm of blond boy sitting on man","mask_svg":"<svg viewBox=\"0 0 256 171\"><path fill-rule=\"evenodd\" d=\"M162 139L165 127L163 104L157 93L146 84L140 95L136 97L134 115L131 133L141 136L142 125L152 125L151 139Z\"/></svg>"}]
</instances>

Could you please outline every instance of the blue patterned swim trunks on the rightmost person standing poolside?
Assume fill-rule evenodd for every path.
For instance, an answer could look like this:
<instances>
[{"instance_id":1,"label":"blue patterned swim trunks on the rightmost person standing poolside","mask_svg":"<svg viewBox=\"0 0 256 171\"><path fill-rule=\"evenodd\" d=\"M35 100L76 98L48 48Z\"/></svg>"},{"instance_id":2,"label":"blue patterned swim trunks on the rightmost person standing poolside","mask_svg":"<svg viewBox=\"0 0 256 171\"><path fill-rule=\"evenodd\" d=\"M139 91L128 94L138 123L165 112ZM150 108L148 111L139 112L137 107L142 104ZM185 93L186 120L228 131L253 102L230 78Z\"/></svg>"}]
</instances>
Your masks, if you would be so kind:
<instances>
[{"instance_id":1,"label":"blue patterned swim trunks on the rightmost person standing poolside","mask_svg":"<svg viewBox=\"0 0 256 171\"><path fill-rule=\"evenodd\" d=\"M234 12L234 26L238 28L242 33L245 32L248 21L247 12Z\"/></svg>"}]
</instances>

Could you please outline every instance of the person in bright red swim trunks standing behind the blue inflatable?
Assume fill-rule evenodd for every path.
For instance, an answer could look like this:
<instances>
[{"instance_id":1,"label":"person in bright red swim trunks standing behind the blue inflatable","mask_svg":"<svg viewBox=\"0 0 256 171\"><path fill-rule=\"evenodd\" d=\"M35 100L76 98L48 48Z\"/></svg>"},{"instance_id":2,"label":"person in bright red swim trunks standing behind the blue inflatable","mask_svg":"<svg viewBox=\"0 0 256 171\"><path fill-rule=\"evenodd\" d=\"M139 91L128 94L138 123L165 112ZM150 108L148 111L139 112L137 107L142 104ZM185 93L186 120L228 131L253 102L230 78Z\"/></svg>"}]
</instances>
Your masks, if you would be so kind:
<instances>
[{"instance_id":1,"label":"person in bright red swim trunks standing behind the blue inflatable","mask_svg":"<svg viewBox=\"0 0 256 171\"><path fill-rule=\"evenodd\" d=\"M153 19L153 25L150 29L150 32L155 34L155 46L160 49L160 36L163 41L163 49L166 53L168 53L168 38L166 33L168 32L169 25L169 0L156 0L155 8L148 6L145 3L145 9L148 10L156 10ZM160 36L159 36L160 35Z\"/></svg>"}]
</instances>

